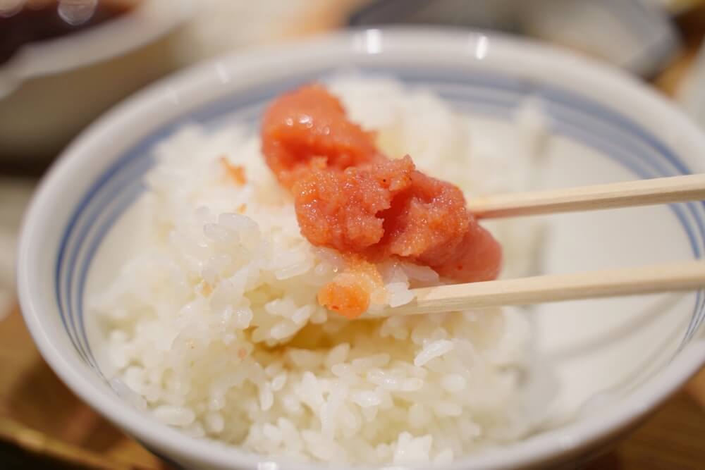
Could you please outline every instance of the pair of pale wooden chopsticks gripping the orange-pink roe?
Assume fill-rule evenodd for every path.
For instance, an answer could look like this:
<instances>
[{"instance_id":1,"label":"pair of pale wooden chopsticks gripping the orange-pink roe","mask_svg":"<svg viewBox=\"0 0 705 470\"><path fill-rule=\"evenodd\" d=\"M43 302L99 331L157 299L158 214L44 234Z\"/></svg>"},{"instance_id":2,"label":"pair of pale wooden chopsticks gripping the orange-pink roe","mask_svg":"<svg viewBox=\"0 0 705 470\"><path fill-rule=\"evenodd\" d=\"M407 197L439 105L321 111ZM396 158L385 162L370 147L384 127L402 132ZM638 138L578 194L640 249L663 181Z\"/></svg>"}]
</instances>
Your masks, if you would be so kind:
<instances>
[{"instance_id":1,"label":"pair of pale wooden chopsticks gripping the orange-pink roe","mask_svg":"<svg viewBox=\"0 0 705 470\"><path fill-rule=\"evenodd\" d=\"M475 217L505 218L648 206L705 199L705 175L628 181L475 199ZM415 299L387 307L381 316L429 314L563 300L678 292L705 287L705 261L533 276L413 289Z\"/></svg>"}]
</instances>

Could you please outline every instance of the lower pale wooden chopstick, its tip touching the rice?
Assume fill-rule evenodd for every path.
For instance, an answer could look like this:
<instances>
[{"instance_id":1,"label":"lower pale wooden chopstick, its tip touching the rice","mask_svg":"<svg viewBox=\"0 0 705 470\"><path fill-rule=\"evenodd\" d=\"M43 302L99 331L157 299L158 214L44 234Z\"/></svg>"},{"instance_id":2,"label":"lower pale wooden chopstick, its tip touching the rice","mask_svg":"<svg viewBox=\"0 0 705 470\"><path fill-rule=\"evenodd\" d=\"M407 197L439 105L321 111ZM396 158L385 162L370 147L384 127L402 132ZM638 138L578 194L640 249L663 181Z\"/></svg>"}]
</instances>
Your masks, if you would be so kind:
<instances>
[{"instance_id":1,"label":"lower pale wooden chopstick, its tip touching the rice","mask_svg":"<svg viewBox=\"0 0 705 470\"><path fill-rule=\"evenodd\" d=\"M413 289L415 299L409 304L386 307L380 314L373 315L431 314L503 305L678 292L697 290L700 287L705 287L705 260L681 261ZM366 314L363 318L373 318L373 315Z\"/></svg>"}]
</instances>

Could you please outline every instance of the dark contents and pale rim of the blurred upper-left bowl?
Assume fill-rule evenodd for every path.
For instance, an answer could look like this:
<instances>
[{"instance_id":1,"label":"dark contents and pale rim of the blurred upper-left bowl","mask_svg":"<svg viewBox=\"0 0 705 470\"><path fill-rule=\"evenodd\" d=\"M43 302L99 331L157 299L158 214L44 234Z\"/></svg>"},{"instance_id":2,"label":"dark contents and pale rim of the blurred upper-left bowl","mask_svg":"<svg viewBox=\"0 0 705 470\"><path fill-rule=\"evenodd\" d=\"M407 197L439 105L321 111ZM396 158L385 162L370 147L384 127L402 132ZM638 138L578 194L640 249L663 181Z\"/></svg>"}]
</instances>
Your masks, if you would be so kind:
<instances>
[{"instance_id":1,"label":"dark contents and pale rim of the blurred upper-left bowl","mask_svg":"<svg viewBox=\"0 0 705 470\"><path fill-rule=\"evenodd\" d=\"M22 80L86 66L152 42L183 21L190 6L186 0L73 1L24 0L16 11L0 9L3 95Z\"/></svg>"}]
</instances>

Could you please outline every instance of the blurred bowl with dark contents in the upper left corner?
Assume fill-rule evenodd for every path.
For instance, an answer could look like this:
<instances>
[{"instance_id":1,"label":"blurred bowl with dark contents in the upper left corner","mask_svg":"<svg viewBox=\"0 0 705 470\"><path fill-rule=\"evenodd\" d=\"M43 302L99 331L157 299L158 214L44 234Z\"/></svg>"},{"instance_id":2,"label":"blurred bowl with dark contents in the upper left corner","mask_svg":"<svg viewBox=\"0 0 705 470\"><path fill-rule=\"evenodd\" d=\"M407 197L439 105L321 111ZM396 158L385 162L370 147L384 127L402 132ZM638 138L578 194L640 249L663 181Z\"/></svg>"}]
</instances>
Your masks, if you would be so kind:
<instances>
[{"instance_id":1,"label":"blurred bowl with dark contents in the upper left corner","mask_svg":"<svg viewBox=\"0 0 705 470\"><path fill-rule=\"evenodd\" d=\"M95 24L61 27L61 1L42 1L33 11L36 3L0 17L0 34L8 37L0 63L0 162L20 167L46 164L90 120L173 70L158 39L185 20L190 6L101 1Z\"/></svg>"}]
</instances>

